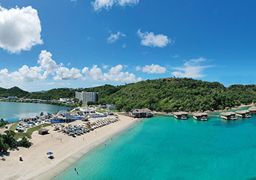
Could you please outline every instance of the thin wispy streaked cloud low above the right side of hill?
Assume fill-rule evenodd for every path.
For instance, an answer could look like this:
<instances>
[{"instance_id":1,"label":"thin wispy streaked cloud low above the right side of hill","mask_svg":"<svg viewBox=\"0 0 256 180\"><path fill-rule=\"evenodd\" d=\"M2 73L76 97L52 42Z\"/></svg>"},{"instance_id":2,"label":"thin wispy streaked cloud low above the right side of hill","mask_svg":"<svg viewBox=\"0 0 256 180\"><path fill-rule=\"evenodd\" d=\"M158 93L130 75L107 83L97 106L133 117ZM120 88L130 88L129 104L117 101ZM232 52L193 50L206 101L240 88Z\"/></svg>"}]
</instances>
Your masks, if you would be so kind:
<instances>
[{"instance_id":1,"label":"thin wispy streaked cloud low above the right side of hill","mask_svg":"<svg viewBox=\"0 0 256 180\"><path fill-rule=\"evenodd\" d=\"M190 59L184 63L182 68L174 68L175 72L172 72L173 76L182 78L203 78L206 76L203 71L206 68L211 68L213 66L202 66L200 63L206 62L205 58Z\"/></svg>"}]
</instances>

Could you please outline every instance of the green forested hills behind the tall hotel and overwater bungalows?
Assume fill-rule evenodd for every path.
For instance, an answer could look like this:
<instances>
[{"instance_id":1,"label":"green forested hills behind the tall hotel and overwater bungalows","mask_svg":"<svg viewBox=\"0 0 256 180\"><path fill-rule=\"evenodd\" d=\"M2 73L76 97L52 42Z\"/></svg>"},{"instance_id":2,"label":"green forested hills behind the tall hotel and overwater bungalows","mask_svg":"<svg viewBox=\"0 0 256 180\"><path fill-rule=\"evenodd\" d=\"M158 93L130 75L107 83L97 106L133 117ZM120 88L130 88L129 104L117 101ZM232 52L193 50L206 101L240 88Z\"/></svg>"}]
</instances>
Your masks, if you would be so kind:
<instances>
[{"instance_id":1,"label":"green forested hills behind the tall hotel and overwater bungalows","mask_svg":"<svg viewBox=\"0 0 256 180\"><path fill-rule=\"evenodd\" d=\"M256 102L255 84L225 87L219 82L192 78L161 78L123 86L105 85L87 89L52 89L27 94L26 97L32 99L74 98L75 91L97 91L99 92L98 104L115 104L118 110L125 111L145 107L164 112L205 111Z\"/></svg>"}]
</instances>

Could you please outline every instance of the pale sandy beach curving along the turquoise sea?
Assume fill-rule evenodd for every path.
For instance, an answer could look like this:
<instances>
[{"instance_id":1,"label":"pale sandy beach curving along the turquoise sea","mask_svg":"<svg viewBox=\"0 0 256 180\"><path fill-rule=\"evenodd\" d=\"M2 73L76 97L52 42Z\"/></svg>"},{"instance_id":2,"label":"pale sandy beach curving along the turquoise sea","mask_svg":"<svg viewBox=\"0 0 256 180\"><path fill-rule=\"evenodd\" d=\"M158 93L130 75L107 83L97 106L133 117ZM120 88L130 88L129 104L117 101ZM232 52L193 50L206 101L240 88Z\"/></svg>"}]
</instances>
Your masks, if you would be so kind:
<instances>
[{"instance_id":1,"label":"pale sandy beach curving along the turquoise sea","mask_svg":"<svg viewBox=\"0 0 256 180\"><path fill-rule=\"evenodd\" d=\"M10 150L9 156L4 156L6 161L1 161L1 179L51 179L64 171L73 163L93 148L106 140L109 140L118 132L131 127L137 119L119 115L120 121L100 127L85 135L72 138L62 132L53 131L53 127L47 127L48 135L39 135L33 132L30 140L33 145L19 150ZM83 122L77 120L72 125ZM46 154L53 152L53 159ZM23 161L19 161L19 156Z\"/></svg>"}]
</instances>

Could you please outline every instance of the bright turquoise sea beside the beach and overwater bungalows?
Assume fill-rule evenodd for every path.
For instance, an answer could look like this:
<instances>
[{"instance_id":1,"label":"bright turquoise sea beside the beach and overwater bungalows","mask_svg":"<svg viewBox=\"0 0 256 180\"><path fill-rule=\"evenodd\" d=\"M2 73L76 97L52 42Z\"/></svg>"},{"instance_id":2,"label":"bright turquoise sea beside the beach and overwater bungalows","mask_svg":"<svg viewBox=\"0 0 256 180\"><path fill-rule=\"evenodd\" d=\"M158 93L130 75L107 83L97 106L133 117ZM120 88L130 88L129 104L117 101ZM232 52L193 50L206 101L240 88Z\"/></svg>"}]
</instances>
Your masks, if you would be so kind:
<instances>
[{"instance_id":1,"label":"bright turquoise sea beside the beach and overwater bungalows","mask_svg":"<svg viewBox=\"0 0 256 180\"><path fill-rule=\"evenodd\" d=\"M54 179L250 179L256 177L255 137L256 115L208 122L154 117L108 140Z\"/></svg>"}]
</instances>

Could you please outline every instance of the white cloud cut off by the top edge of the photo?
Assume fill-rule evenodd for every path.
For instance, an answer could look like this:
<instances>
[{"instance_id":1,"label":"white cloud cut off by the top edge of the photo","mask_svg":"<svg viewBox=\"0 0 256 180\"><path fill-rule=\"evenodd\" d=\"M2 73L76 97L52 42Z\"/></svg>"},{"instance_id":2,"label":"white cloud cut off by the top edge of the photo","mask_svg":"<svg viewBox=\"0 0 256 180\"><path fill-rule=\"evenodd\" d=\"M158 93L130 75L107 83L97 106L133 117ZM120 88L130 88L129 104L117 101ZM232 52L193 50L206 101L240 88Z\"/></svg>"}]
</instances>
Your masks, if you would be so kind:
<instances>
[{"instance_id":1,"label":"white cloud cut off by the top edge of the photo","mask_svg":"<svg viewBox=\"0 0 256 180\"><path fill-rule=\"evenodd\" d=\"M107 11L112 8L112 6L131 6L138 4L139 0L95 0L91 4L94 8L94 11L101 11L106 9Z\"/></svg>"}]
</instances>

